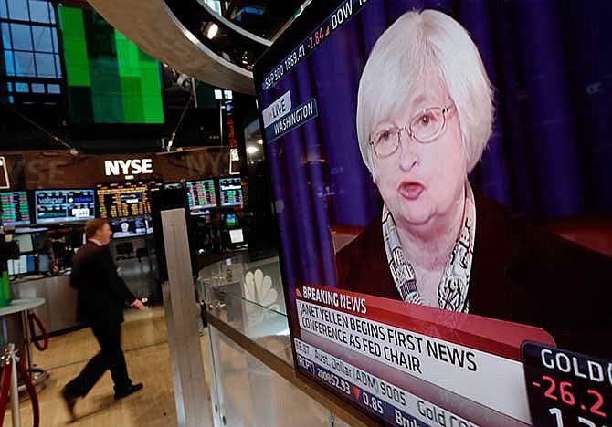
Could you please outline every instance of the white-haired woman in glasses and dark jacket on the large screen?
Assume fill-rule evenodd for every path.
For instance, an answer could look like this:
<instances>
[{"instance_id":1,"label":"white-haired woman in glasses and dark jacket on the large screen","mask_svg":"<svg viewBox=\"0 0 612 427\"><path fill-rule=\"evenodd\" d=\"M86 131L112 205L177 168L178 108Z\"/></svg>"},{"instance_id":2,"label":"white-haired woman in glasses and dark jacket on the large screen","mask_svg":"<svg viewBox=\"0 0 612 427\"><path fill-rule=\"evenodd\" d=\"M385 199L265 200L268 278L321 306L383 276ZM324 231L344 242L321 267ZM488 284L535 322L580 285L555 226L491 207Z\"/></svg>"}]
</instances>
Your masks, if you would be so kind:
<instances>
[{"instance_id":1,"label":"white-haired woman in glasses and dark jacket on the large screen","mask_svg":"<svg viewBox=\"0 0 612 427\"><path fill-rule=\"evenodd\" d=\"M612 259L470 186L491 136L492 97L478 48L450 16L408 12L380 36L356 126L384 207L338 253L340 286L531 324L561 346L612 356Z\"/></svg>"}]
</instances>

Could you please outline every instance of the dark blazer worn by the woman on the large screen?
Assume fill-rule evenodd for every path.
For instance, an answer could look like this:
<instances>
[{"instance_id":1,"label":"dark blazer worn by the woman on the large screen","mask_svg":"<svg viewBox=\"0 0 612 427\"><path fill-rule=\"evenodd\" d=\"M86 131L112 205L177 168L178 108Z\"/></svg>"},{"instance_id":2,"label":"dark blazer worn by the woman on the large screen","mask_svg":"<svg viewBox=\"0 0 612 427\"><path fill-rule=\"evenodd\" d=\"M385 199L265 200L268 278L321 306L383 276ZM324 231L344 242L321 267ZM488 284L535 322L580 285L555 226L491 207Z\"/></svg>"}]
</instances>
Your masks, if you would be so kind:
<instances>
[{"instance_id":1,"label":"dark blazer worn by the woman on the large screen","mask_svg":"<svg viewBox=\"0 0 612 427\"><path fill-rule=\"evenodd\" d=\"M475 193L470 314L533 325L560 348L612 359L612 258L512 214ZM338 284L400 299L380 217L336 255Z\"/></svg>"}]
</instances>

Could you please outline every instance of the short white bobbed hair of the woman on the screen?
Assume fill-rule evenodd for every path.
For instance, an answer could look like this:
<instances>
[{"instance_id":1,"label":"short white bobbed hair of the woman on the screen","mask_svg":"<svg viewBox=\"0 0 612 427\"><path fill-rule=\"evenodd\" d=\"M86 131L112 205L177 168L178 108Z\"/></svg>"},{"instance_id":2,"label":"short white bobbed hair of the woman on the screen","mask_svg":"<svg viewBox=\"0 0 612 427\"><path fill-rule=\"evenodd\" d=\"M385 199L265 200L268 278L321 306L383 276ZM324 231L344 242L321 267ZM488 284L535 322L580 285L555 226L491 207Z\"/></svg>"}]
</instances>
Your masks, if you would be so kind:
<instances>
[{"instance_id":1,"label":"short white bobbed hair of the woman on the screen","mask_svg":"<svg viewBox=\"0 0 612 427\"><path fill-rule=\"evenodd\" d=\"M480 161L491 137L493 89L478 48L450 16L436 10L411 11L378 38L359 82L359 150L374 177L371 132L406 107L427 69L438 70L457 109L468 172Z\"/></svg>"}]
</instances>

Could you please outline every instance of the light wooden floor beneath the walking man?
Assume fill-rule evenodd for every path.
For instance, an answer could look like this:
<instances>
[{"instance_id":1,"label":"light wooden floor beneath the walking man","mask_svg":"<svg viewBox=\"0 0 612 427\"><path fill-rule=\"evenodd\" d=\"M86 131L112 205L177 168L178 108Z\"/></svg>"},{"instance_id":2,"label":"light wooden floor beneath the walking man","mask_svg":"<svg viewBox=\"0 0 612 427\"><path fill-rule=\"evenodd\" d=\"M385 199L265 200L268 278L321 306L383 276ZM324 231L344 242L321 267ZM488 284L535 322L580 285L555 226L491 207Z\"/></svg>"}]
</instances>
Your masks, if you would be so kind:
<instances>
[{"instance_id":1,"label":"light wooden floor beneath the walking man","mask_svg":"<svg viewBox=\"0 0 612 427\"><path fill-rule=\"evenodd\" d=\"M107 371L90 394L78 401L77 420L72 423L69 422L69 413L61 400L60 391L98 351L98 343L90 329L84 328L50 338L46 351L37 351L33 347L34 363L50 374L46 387L38 394L41 426L176 425L164 309L153 307L143 312L127 310L121 330L130 376L132 380L142 381L144 389L115 401L111 374ZM30 401L21 402L21 417L23 425L31 425ZM10 425L10 419L10 411L6 411L7 425Z\"/></svg>"}]
</instances>

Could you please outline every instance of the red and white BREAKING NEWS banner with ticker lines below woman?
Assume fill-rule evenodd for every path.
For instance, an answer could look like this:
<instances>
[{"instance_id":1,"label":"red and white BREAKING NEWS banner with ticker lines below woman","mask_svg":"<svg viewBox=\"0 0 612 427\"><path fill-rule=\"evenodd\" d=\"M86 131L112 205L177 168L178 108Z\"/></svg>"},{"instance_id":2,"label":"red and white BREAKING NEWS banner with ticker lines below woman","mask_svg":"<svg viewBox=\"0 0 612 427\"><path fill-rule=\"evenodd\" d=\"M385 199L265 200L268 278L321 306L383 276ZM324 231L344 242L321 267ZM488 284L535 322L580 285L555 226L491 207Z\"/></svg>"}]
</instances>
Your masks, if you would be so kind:
<instances>
[{"instance_id":1,"label":"red and white BREAKING NEWS banner with ticker lines below woman","mask_svg":"<svg viewBox=\"0 0 612 427\"><path fill-rule=\"evenodd\" d=\"M298 364L392 425L531 422L521 362L543 329L343 291L296 289Z\"/></svg>"}]
</instances>

